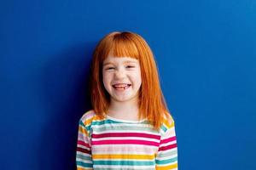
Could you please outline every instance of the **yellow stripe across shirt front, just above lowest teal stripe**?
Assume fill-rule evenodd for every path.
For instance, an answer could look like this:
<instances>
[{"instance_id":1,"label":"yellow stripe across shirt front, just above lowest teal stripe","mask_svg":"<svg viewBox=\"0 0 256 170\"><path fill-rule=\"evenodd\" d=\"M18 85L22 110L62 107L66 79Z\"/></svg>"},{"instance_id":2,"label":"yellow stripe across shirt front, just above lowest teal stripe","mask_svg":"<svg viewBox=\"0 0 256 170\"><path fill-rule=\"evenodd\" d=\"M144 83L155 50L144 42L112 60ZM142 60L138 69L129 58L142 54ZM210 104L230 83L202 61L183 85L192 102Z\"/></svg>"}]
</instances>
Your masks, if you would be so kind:
<instances>
[{"instance_id":1,"label":"yellow stripe across shirt front, just above lowest teal stripe","mask_svg":"<svg viewBox=\"0 0 256 170\"><path fill-rule=\"evenodd\" d=\"M93 159L136 159L136 160L143 160L143 159L154 159L154 155L93 155Z\"/></svg>"}]
</instances>

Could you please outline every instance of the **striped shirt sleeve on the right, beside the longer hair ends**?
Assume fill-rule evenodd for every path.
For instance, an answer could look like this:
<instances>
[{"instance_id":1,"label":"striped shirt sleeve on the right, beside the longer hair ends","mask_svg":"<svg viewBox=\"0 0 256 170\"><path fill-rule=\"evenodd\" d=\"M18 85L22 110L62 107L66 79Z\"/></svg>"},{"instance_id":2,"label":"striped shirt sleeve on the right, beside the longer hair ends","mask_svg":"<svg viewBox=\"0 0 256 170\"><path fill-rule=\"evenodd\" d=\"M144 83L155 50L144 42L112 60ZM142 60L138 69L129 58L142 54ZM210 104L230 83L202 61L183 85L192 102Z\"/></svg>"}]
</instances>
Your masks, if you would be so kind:
<instances>
[{"instance_id":1,"label":"striped shirt sleeve on the right, beside the longer hair ends","mask_svg":"<svg viewBox=\"0 0 256 170\"><path fill-rule=\"evenodd\" d=\"M168 121L161 127L164 131L160 138L160 146L156 156L156 169L177 170L177 139L174 121Z\"/></svg>"}]
</instances>

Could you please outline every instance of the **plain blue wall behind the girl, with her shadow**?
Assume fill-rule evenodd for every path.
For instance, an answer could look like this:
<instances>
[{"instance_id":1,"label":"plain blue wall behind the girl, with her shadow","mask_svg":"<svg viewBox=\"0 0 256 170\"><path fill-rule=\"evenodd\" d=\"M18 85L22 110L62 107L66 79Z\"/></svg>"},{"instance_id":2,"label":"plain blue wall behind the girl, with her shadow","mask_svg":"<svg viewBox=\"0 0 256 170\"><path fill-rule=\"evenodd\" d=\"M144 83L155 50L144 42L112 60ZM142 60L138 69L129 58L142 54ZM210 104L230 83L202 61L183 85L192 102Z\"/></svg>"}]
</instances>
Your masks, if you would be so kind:
<instances>
[{"instance_id":1,"label":"plain blue wall behind the girl, with her shadow","mask_svg":"<svg viewBox=\"0 0 256 170\"><path fill-rule=\"evenodd\" d=\"M1 1L0 168L74 169L96 43L154 51L181 170L256 169L256 1Z\"/></svg>"}]
</instances>

